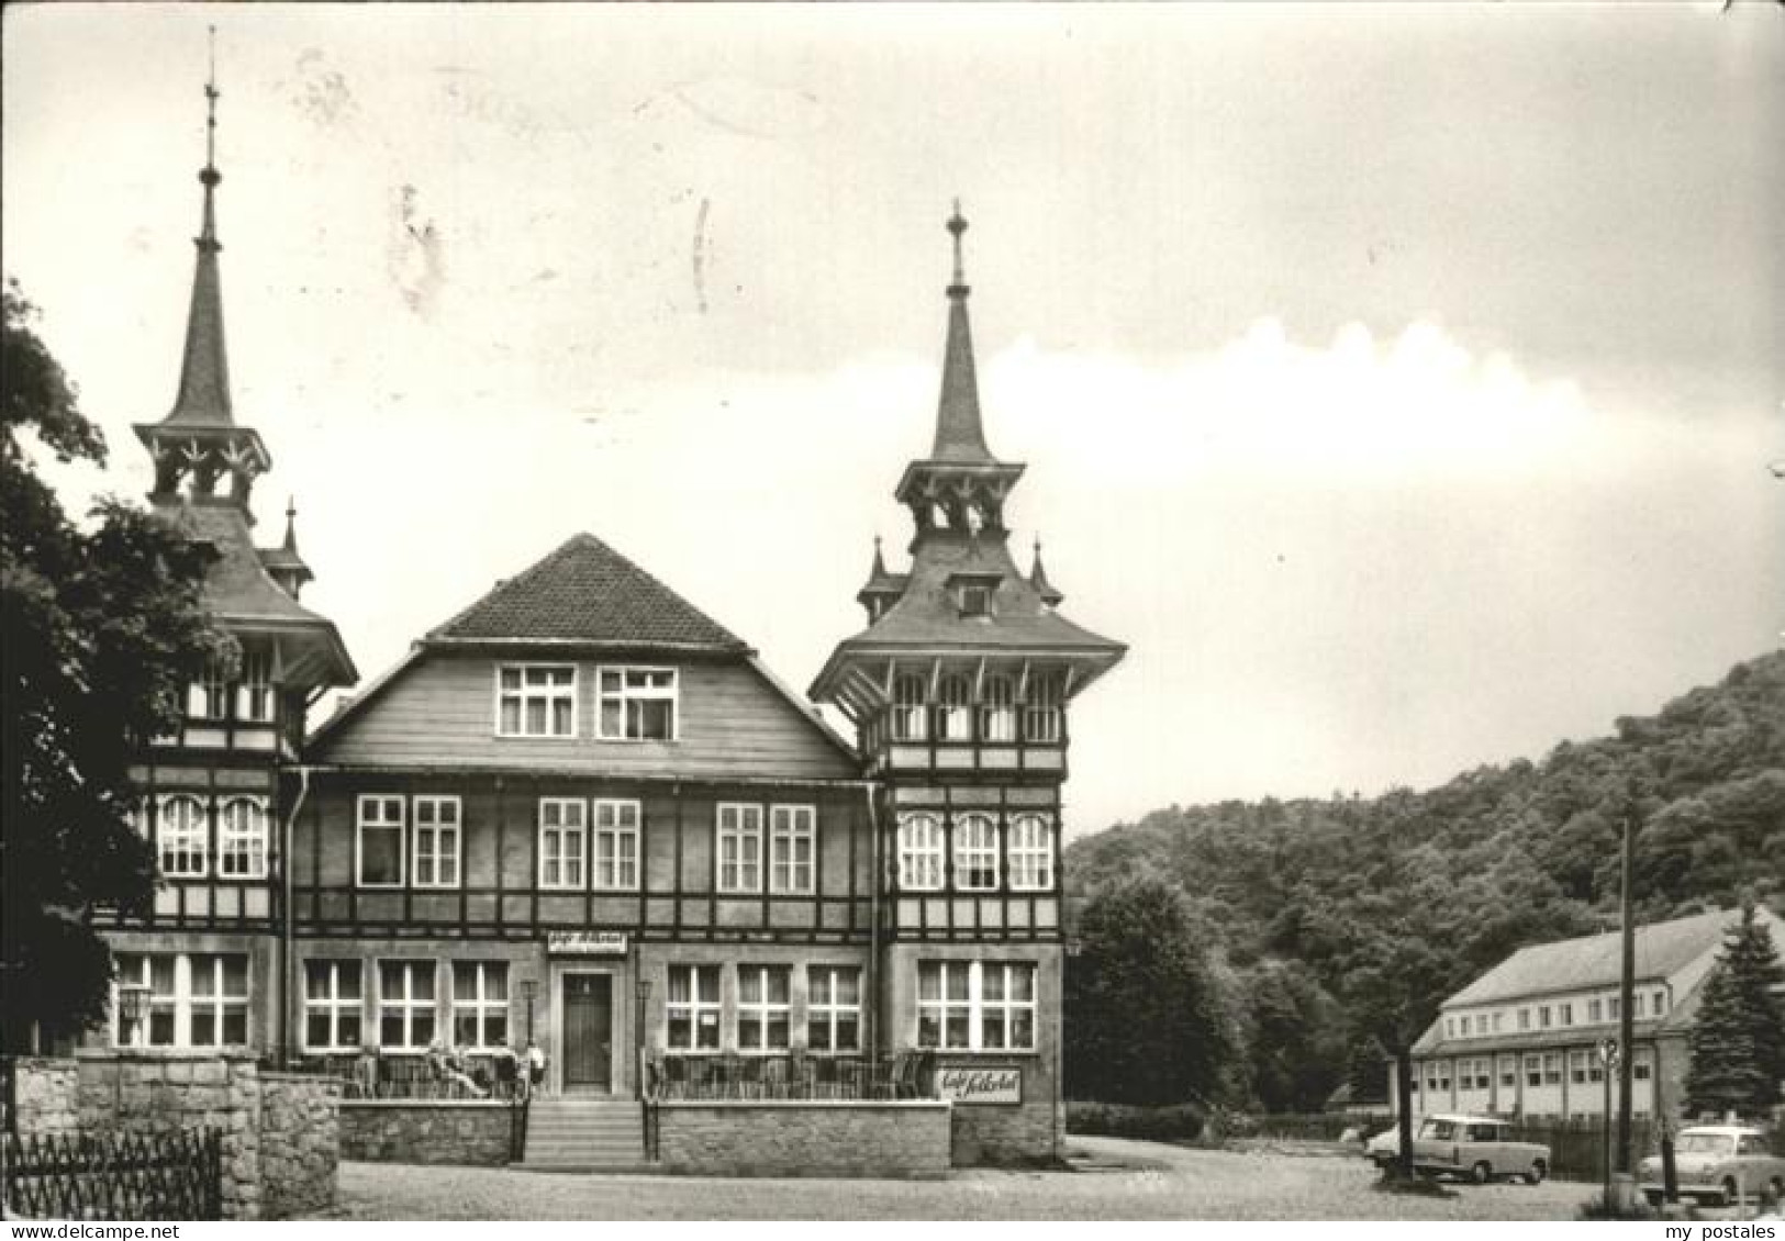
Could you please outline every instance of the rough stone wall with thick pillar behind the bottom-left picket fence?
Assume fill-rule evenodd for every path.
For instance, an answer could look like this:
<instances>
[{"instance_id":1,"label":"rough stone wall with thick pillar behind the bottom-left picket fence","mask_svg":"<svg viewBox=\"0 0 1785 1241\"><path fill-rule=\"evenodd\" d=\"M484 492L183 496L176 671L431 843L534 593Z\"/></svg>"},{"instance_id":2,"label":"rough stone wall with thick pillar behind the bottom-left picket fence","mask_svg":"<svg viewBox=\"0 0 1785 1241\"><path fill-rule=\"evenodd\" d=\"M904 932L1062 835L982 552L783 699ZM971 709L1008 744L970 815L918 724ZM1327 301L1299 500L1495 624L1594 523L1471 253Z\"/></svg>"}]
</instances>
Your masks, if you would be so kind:
<instances>
[{"instance_id":1,"label":"rough stone wall with thick pillar behind the bottom-left picket fence","mask_svg":"<svg viewBox=\"0 0 1785 1241\"><path fill-rule=\"evenodd\" d=\"M221 1130L225 1220L334 1207L339 1086L330 1079L262 1073L248 1055L173 1050L18 1061L16 1073L20 1132Z\"/></svg>"}]
</instances>

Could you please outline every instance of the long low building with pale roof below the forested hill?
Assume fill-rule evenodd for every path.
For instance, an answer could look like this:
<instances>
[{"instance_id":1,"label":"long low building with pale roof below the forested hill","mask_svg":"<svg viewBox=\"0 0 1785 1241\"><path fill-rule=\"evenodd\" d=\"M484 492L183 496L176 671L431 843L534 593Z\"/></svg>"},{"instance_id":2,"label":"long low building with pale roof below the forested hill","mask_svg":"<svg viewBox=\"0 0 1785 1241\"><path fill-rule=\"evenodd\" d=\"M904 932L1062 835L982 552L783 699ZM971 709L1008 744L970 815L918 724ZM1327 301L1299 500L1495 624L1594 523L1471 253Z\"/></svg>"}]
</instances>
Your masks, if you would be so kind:
<instances>
[{"instance_id":1,"label":"long low building with pale roof below the forested hill","mask_svg":"<svg viewBox=\"0 0 1785 1241\"><path fill-rule=\"evenodd\" d=\"M1755 914L1774 937L1780 920ZM1678 1120L1689 1037L1724 932L1742 920L1719 909L1637 927L1631 998L1631 1114ZM1617 1039L1623 936L1606 932L1519 948L1449 996L1414 1045L1416 1116L1490 1112L1519 1120L1603 1116L1619 1109L1619 1070L1599 1048ZM1391 1105L1399 1105L1389 1073Z\"/></svg>"}]
</instances>

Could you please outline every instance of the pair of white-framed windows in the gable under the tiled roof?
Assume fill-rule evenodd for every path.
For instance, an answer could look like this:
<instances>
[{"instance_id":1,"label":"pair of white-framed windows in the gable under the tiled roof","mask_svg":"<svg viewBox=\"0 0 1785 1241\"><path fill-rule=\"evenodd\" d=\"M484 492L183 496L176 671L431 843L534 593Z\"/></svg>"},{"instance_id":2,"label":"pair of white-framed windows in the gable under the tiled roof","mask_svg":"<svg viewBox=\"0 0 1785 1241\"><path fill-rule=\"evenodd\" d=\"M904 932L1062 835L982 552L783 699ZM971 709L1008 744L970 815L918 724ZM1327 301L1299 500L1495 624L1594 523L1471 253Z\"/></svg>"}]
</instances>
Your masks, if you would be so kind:
<instances>
[{"instance_id":1,"label":"pair of white-framed windows in the gable under the tiled roof","mask_svg":"<svg viewBox=\"0 0 1785 1241\"><path fill-rule=\"evenodd\" d=\"M675 668L596 668L596 741L675 741ZM577 664L498 664L496 736L568 739L582 736Z\"/></svg>"}]
</instances>

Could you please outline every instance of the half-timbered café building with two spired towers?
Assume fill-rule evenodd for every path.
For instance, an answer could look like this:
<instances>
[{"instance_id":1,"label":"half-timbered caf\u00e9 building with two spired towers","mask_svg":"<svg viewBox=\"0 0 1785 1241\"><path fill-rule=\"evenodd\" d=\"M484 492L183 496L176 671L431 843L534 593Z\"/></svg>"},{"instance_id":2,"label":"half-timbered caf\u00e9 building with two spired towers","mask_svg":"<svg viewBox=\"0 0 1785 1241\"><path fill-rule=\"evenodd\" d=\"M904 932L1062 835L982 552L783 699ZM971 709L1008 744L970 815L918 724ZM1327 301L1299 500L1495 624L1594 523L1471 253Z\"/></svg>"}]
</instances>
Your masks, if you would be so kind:
<instances>
[{"instance_id":1,"label":"half-timbered caf\u00e9 building with two spired towers","mask_svg":"<svg viewBox=\"0 0 1785 1241\"><path fill-rule=\"evenodd\" d=\"M868 627L810 689L857 745L591 534L305 736L357 673L298 598L293 514L252 539L271 457L234 420L214 159L200 180L178 396L139 432L154 505L218 552L207 600L245 659L139 766L161 887L109 936L150 1005L111 1037L352 1071L537 1045L543 1089L591 1100L739 1061L841 1096L841 1070L803 1066L885 1086L885 1057L923 1057L957 1159L1057 1154L1067 705L1123 646L1060 614L1039 546L1012 559L1023 466L985 443L959 211L934 448L894 493L910 566L876 546Z\"/></svg>"}]
</instances>

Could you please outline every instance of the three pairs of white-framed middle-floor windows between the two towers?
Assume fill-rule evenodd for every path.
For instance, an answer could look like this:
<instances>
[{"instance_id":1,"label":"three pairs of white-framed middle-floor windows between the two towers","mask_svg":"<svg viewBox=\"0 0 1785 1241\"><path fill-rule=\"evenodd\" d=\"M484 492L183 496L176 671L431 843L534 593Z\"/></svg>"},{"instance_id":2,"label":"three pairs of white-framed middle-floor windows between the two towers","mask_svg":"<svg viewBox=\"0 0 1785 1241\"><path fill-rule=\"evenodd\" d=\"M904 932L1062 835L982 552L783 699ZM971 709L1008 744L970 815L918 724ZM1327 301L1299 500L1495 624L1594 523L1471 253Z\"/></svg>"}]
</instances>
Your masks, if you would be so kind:
<instances>
[{"instance_id":1,"label":"three pairs of white-framed middle-floor windows between the two towers","mask_svg":"<svg viewBox=\"0 0 1785 1241\"><path fill-rule=\"evenodd\" d=\"M630 798L539 798L539 886L639 891L641 821L643 807ZM818 807L721 802L714 832L718 891L818 891ZM361 887L402 887L405 875L412 887L461 884L464 820L457 796L362 795L357 837Z\"/></svg>"}]
</instances>

